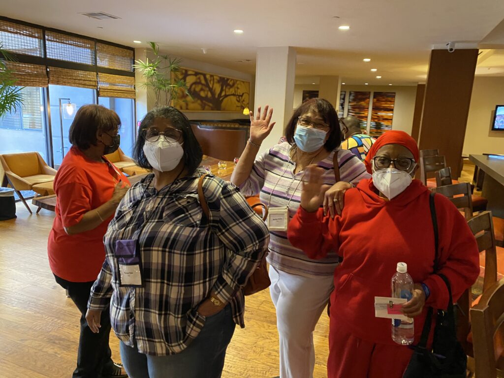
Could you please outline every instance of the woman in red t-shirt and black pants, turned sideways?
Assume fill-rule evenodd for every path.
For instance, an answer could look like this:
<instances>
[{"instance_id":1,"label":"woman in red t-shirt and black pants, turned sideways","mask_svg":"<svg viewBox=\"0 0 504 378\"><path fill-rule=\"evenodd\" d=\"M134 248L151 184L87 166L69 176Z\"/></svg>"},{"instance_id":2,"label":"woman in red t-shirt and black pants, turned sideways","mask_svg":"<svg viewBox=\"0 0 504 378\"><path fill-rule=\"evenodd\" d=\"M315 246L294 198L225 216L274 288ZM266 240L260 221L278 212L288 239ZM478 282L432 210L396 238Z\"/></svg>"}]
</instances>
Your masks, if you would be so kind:
<instances>
[{"instance_id":1,"label":"woman in red t-shirt and black pants, turned sideways","mask_svg":"<svg viewBox=\"0 0 504 378\"><path fill-rule=\"evenodd\" d=\"M105 260L103 235L130 187L128 179L103 157L119 147L119 125L112 110L100 105L81 107L70 127L73 146L54 178L57 200L47 243L49 266L81 311L73 378L127 376L110 358L109 312L102 312L98 334L91 332L85 318L91 286Z\"/></svg>"}]
</instances>

